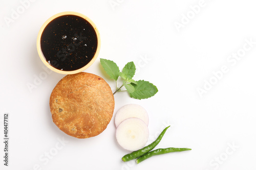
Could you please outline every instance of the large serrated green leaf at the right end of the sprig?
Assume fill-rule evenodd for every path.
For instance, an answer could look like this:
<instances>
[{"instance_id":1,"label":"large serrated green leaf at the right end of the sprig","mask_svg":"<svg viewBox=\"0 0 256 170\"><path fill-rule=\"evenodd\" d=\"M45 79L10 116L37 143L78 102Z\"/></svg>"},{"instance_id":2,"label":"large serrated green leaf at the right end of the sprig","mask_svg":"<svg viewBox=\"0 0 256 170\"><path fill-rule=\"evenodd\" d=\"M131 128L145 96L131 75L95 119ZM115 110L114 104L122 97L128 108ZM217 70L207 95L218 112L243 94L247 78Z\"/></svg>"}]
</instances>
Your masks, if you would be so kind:
<instances>
[{"instance_id":1,"label":"large serrated green leaf at the right end of the sprig","mask_svg":"<svg viewBox=\"0 0 256 170\"><path fill-rule=\"evenodd\" d=\"M130 96L134 99L147 99L158 92L158 89L155 85L144 80L139 80L137 81L137 84L131 85L135 88L135 91L130 93Z\"/></svg>"}]
</instances>

